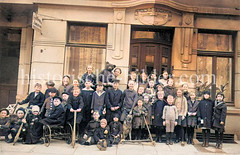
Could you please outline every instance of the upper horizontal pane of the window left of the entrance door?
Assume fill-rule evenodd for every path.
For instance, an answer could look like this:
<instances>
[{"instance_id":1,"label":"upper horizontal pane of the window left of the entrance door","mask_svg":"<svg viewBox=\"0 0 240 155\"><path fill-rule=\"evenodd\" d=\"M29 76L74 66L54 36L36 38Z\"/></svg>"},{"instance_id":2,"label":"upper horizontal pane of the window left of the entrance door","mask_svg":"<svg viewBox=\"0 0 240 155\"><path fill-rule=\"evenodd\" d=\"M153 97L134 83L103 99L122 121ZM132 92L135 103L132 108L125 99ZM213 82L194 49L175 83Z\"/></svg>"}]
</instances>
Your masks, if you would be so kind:
<instances>
[{"instance_id":1,"label":"upper horizontal pane of the window left of the entrance door","mask_svg":"<svg viewBox=\"0 0 240 155\"><path fill-rule=\"evenodd\" d=\"M69 43L106 44L106 27L71 25Z\"/></svg>"}]
</instances>

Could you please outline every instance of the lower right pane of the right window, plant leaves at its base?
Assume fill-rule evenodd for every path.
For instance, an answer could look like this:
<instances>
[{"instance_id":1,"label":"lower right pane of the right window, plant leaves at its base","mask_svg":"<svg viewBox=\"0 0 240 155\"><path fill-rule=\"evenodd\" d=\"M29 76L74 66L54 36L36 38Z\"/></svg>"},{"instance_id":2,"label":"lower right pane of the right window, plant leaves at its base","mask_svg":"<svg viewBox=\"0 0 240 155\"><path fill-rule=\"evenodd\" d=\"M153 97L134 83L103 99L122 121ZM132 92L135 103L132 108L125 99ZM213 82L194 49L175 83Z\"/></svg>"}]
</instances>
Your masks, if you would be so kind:
<instances>
[{"instance_id":1,"label":"lower right pane of the right window, plant leaves at its base","mask_svg":"<svg viewBox=\"0 0 240 155\"><path fill-rule=\"evenodd\" d=\"M224 89L226 102L232 101L232 98L231 98L232 59L231 58L217 58L216 87L217 87L217 92L222 91L222 89Z\"/></svg>"}]
</instances>

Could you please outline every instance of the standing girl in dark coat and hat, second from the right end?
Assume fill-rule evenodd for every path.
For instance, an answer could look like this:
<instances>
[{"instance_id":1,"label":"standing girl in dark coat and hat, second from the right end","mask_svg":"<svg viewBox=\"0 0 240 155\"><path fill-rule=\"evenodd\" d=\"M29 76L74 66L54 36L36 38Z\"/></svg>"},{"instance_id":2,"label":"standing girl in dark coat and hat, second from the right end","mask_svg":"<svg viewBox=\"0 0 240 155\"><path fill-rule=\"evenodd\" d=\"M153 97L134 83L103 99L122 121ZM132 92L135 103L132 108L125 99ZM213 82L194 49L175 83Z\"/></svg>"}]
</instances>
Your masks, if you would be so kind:
<instances>
[{"instance_id":1,"label":"standing girl in dark coat and hat, second from the right end","mask_svg":"<svg viewBox=\"0 0 240 155\"><path fill-rule=\"evenodd\" d=\"M203 93L203 99L198 105L198 120L201 121L200 127L203 134L203 147L209 146L210 129L212 127L213 102L210 99L210 92Z\"/></svg>"}]
</instances>

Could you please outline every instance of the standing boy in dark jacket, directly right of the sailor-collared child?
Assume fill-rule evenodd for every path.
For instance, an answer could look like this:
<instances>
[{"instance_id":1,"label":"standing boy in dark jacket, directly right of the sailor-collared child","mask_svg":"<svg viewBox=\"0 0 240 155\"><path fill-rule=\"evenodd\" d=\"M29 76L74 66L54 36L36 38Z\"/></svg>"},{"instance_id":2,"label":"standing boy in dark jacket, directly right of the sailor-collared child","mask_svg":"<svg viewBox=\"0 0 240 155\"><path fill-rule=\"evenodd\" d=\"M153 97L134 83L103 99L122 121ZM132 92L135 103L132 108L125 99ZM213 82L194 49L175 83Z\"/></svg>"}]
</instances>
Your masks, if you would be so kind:
<instances>
[{"instance_id":1,"label":"standing boy in dark jacket, directly right of the sailor-collared child","mask_svg":"<svg viewBox=\"0 0 240 155\"><path fill-rule=\"evenodd\" d=\"M113 120L114 114L121 116L122 107L122 91L118 89L119 80L113 81L113 88L109 89L106 93L106 105L107 105L107 116L108 122Z\"/></svg>"}]
</instances>

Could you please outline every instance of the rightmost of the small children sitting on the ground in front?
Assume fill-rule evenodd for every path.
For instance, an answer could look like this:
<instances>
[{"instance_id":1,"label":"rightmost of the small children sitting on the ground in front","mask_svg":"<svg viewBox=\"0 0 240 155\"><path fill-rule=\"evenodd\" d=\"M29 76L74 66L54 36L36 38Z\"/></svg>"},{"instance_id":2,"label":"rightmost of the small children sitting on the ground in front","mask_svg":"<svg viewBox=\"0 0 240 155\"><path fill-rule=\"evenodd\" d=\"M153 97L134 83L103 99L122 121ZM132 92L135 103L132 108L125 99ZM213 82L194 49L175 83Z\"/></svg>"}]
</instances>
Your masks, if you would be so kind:
<instances>
[{"instance_id":1,"label":"rightmost of the small children sitting on the ground in front","mask_svg":"<svg viewBox=\"0 0 240 155\"><path fill-rule=\"evenodd\" d=\"M119 122L119 115L116 113L113 116L113 122L109 124L110 128L110 143L118 144L121 140L121 135L123 132L122 123Z\"/></svg>"}]
</instances>

